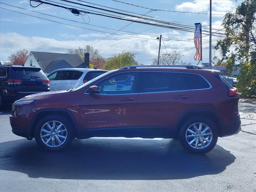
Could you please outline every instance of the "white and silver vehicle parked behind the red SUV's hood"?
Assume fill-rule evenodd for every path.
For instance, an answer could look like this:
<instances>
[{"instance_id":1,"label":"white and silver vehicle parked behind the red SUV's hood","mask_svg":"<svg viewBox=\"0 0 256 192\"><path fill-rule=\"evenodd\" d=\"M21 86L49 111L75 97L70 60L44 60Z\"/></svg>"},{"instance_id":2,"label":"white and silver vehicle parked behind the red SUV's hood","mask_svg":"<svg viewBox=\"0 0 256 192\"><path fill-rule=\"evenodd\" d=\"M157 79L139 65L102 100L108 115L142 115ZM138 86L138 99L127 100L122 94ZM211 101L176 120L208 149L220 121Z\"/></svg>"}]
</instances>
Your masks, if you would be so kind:
<instances>
[{"instance_id":1,"label":"white and silver vehicle parked behind the red SUV's hood","mask_svg":"<svg viewBox=\"0 0 256 192\"><path fill-rule=\"evenodd\" d=\"M92 80L93 78L106 72L106 70L100 69L57 69L48 75L48 79L50 80L50 89L51 91L56 91L77 88L89 80Z\"/></svg>"}]
</instances>

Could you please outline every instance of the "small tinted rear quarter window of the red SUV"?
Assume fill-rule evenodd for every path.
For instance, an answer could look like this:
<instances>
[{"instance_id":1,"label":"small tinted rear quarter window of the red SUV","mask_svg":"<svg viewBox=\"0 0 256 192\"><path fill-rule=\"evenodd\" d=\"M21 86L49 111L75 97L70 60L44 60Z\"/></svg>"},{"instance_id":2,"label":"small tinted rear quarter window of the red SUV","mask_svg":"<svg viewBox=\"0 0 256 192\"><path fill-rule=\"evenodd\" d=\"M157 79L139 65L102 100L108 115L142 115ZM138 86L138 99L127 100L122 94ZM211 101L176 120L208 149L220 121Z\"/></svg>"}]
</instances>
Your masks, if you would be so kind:
<instances>
[{"instance_id":1,"label":"small tinted rear quarter window of the red SUV","mask_svg":"<svg viewBox=\"0 0 256 192\"><path fill-rule=\"evenodd\" d=\"M184 75L186 76L186 82L190 90L205 89L210 87L206 80L204 80L204 78L202 78L200 75L190 73L184 73Z\"/></svg>"}]
</instances>

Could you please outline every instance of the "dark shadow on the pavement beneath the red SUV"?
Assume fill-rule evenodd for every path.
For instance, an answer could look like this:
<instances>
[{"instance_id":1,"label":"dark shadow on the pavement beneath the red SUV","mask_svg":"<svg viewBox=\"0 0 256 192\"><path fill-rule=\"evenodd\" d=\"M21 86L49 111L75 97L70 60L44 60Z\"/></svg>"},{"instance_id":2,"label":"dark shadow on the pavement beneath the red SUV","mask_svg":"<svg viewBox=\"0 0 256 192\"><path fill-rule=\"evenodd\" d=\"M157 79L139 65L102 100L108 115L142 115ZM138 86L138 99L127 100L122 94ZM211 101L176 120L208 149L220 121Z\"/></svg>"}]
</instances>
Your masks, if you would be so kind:
<instances>
[{"instance_id":1,"label":"dark shadow on the pavement beneath the red SUV","mask_svg":"<svg viewBox=\"0 0 256 192\"><path fill-rule=\"evenodd\" d=\"M191 154L173 139L76 139L62 152L22 139L1 143L0 152L0 170L55 179L184 179L219 174L236 159L218 145L207 154Z\"/></svg>"}]
</instances>

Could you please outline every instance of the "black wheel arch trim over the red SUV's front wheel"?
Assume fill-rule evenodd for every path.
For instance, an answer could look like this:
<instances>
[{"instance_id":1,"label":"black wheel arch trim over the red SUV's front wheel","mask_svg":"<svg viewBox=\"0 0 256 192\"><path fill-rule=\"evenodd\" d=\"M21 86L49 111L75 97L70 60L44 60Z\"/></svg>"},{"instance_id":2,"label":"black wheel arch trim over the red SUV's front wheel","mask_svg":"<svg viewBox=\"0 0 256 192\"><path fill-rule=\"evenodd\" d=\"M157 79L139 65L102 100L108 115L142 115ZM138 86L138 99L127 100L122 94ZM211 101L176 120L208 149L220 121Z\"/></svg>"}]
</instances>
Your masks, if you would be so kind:
<instances>
[{"instance_id":1,"label":"black wheel arch trim over the red SUV's front wheel","mask_svg":"<svg viewBox=\"0 0 256 192\"><path fill-rule=\"evenodd\" d=\"M63 109L63 108L49 108L49 109L40 109L36 111L34 114L32 121L30 122L30 138L34 138L34 132L36 128L36 122L38 122L42 117L48 116L48 115L60 115L60 116L65 116L70 120L70 122L74 126L74 134L76 136L77 133L77 128L78 124L76 122L76 119L74 118L74 115L72 112L70 112L68 109Z\"/></svg>"}]
</instances>

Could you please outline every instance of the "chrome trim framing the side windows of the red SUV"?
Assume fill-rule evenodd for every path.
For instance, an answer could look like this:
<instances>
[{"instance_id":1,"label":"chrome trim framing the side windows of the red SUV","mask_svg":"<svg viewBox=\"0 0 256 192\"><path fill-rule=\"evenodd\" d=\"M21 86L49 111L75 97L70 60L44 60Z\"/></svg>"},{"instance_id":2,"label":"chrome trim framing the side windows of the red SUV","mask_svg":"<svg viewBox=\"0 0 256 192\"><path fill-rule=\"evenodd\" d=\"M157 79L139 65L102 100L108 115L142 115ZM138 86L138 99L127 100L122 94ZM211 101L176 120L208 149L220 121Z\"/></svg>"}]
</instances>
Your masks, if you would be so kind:
<instances>
[{"instance_id":1,"label":"chrome trim framing the side windows of the red SUV","mask_svg":"<svg viewBox=\"0 0 256 192\"><path fill-rule=\"evenodd\" d=\"M127 72L121 72L121 73L131 73L131 71L127 71ZM200 77L202 77L209 85L208 88L202 88L202 89L186 89L186 90L175 90L175 91L158 91L158 92L138 92L138 93L130 93L130 94L96 94L96 95L131 95L131 94L148 94L148 93L168 93L168 92L182 92L182 91L197 91L197 90L208 90L208 89L211 89L212 88L212 84L210 84L210 82L204 78L202 75L200 74L197 74L197 73L188 73L188 72L172 72L172 71L132 71L132 72L167 72L167 73L186 73L186 74L195 74L195 75L199 75ZM116 73L116 74L121 74L121 73ZM113 75L116 75L116 74L113 74ZM111 75L111 76L113 76ZM111 76L108 76L108 77L111 77ZM108 78L106 77L106 78ZM105 80L106 78L100 80L99 82ZM97 82L97 83L99 83ZM97 84L96 83L96 84ZM95 84L94 84L95 85ZM86 91L88 90L89 88L87 88L84 92L84 94L89 94L90 93L86 93Z\"/></svg>"}]
</instances>

